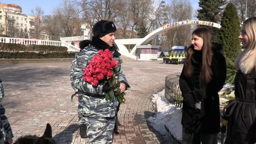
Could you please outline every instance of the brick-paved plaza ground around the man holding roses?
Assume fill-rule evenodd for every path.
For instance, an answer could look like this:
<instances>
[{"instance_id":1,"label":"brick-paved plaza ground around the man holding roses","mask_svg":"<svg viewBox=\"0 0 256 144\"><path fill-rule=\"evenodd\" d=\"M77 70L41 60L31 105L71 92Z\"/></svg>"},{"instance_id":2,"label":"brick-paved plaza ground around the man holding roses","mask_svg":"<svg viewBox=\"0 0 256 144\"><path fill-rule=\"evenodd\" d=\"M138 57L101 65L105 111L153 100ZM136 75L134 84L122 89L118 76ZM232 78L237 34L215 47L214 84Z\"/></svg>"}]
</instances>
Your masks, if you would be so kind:
<instances>
[{"instance_id":1,"label":"brick-paved plaza ground around the man holding roses","mask_svg":"<svg viewBox=\"0 0 256 144\"><path fill-rule=\"evenodd\" d=\"M113 144L176 144L161 135L147 118L156 113L151 101L164 88L165 76L181 72L183 65L162 61L124 61L122 70L131 86L120 107L120 134ZM5 97L1 104L11 124L14 140L27 134L42 136L50 123L58 144L89 144L80 138L77 120L78 100L69 80L70 62L0 64Z\"/></svg>"}]
</instances>

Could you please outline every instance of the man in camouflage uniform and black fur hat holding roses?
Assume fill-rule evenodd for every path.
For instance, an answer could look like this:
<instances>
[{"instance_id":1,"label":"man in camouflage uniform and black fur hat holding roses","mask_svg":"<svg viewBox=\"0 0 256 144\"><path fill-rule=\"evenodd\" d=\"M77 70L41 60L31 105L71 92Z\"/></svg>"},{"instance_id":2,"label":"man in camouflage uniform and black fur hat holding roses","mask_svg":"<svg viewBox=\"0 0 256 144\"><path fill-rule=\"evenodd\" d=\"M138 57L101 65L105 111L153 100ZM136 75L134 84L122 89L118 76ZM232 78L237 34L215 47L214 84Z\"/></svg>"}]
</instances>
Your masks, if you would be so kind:
<instances>
[{"instance_id":1,"label":"man in camouflage uniform and black fur hat holding roses","mask_svg":"<svg viewBox=\"0 0 256 144\"><path fill-rule=\"evenodd\" d=\"M90 144L111 144L119 102L116 97L106 100L104 95L113 84L110 80L105 86L99 83L98 86L94 87L92 84L84 82L83 76L84 68L93 56L98 54L98 50L112 50L116 26L112 21L100 20L94 24L92 31L94 34L92 42L90 46L78 53L76 62L71 69L71 79L74 87L78 89L78 109L86 119L87 136L90 138ZM118 81L122 93L130 86L120 67L120 53L115 50L112 54L114 59L118 60Z\"/></svg>"}]
</instances>

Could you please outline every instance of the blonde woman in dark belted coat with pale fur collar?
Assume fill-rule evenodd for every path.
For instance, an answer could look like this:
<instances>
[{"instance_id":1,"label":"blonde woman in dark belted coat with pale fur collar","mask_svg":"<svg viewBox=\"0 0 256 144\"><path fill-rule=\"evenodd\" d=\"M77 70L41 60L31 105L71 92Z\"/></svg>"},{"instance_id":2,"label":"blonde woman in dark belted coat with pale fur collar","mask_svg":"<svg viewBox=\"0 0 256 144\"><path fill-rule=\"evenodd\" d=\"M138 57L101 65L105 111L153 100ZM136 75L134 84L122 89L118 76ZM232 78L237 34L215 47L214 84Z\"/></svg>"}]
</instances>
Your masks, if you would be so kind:
<instances>
[{"instance_id":1,"label":"blonde woman in dark belted coat with pale fur collar","mask_svg":"<svg viewBox=\"0 0 256 144\"><path fill-rule=\"evenodd\" d=\"M256 142L256 17L244 21L238 36L244 50L235 60L235 100L224 108L228 120L225 144Z\"/></svg>"}]
</instances>

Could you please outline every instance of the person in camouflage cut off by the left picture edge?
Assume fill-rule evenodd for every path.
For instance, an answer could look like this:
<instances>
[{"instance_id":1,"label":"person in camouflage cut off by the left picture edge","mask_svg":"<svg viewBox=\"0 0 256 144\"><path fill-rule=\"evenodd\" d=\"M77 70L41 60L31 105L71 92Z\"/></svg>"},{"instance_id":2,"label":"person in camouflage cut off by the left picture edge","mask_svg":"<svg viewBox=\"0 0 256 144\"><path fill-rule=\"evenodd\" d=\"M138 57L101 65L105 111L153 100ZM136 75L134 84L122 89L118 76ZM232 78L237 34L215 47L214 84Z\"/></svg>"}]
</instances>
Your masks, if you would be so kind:
<instances>
[{"instance_id":1,"label":"person in camouflage cut off by the left picture edge","mask_svg":"<svg viewBox=\"0 0 256 144\"><path fill-rule=\"evenodd\" d=\"M2 80L0 78L0 100L4 97L4 87L2 85ZM0 104L0 144L11 144L12 143L12 129L5 116L5 109Z\"/></svg>"}]
</instances>

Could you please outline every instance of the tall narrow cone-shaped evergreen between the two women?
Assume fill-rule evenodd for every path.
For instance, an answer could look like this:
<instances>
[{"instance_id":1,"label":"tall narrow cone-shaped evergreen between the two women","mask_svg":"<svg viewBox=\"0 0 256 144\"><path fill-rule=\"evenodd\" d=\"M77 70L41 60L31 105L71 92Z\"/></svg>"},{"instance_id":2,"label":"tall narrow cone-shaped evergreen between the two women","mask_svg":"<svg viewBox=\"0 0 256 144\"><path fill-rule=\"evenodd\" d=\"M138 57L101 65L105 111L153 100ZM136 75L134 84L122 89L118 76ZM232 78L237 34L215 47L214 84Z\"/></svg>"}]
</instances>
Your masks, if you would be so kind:
<instances>
[{"instance_id":1,"label":"tall narrow cone-shaped evergreen between the two women","mask_svg":"<svg viewBox=\"0 0 256 144\"><path fill-rule=\"evenodd\" d=\"M236 56L241 52L240 40L240 22L236 6L231 2L227 4L220 28L220 43L224 46L224 55L234 62Z\"/></svg>"}]
</instances>

